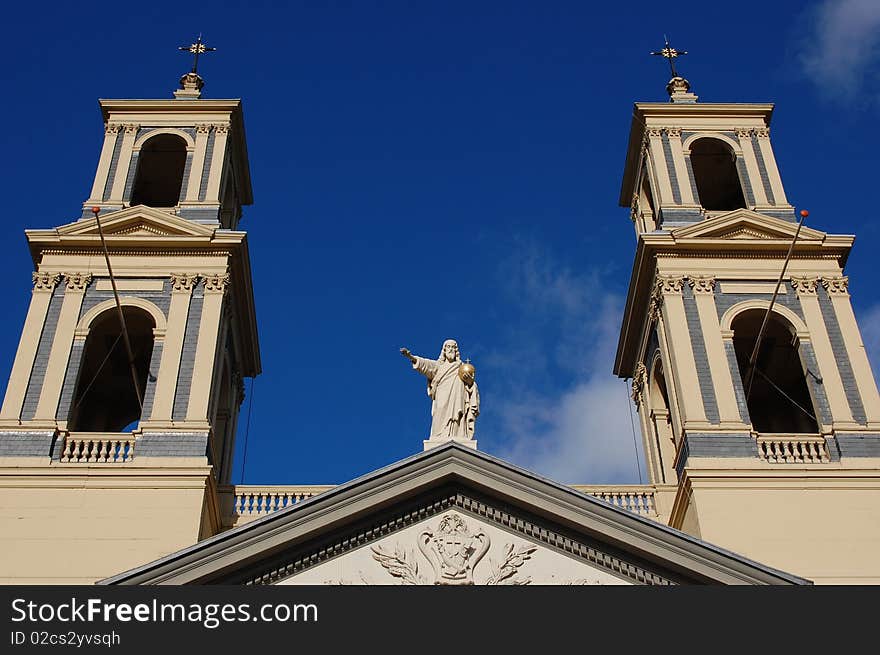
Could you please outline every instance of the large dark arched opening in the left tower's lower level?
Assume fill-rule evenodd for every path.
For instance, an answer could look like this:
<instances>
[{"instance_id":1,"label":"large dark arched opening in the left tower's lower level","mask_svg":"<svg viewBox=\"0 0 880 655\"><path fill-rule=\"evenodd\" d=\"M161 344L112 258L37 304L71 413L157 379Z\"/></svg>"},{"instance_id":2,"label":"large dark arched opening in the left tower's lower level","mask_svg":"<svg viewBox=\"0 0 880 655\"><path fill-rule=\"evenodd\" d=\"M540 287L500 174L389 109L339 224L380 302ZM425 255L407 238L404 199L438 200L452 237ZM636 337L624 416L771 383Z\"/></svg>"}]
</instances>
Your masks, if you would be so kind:
<instances>
[{"instance_id":1,"label":"large dark arched opening in the left tower's lower level","mask_svg":"<svg viewBox=\"0 0 880 655\"><path fill-rule=\"evenodd\" d=\"M123 307L143 399L153 353L153 317L138 307ZM68 420L72 432L122 432L140 419L125 340L116 309L99 315L89 327Z\"/></svg>"}]
</instances>

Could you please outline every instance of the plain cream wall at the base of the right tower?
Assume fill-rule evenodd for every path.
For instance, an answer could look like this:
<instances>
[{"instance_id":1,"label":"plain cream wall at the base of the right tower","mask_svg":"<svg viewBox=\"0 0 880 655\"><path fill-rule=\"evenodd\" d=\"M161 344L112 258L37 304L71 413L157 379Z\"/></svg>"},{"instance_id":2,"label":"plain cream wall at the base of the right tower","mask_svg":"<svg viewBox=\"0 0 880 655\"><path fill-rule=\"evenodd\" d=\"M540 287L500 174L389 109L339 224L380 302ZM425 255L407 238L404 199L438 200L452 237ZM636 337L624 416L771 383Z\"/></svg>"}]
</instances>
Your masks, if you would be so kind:
<instances>
[{"instance_id":1,"label":"plain cream wall at the base of the right tower","mask_svg":"<svg viewBox=\"0 0 880 655\"><path fill-rule=\"evenodd\" d=\"M672 527L816 584L880 584L880 460L688 469Z\"/></svg>"}]
</instances>

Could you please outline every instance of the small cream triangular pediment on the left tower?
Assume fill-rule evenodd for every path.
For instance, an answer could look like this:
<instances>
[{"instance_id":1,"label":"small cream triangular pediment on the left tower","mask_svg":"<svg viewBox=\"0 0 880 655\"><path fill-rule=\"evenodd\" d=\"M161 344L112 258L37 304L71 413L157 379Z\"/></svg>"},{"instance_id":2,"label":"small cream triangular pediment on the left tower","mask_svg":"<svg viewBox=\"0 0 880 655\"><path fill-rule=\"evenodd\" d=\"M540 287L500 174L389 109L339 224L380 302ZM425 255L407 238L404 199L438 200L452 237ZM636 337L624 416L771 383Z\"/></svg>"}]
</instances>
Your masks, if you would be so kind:
<instances>
[{"instance_id":1,"label":"small cream triangular pediment on the left tower","mask_svg":"<svg viewBox=\"0 0 880 655\"><path fill-rule=\"evenodd\" d=\"M200 225L169 212L145 205L128 207L101 217L101 228L106 237L208 237L214 229ZM98 223L86 218L57 228L62 237L98 236Z\"/></svg>"}]
</instances>

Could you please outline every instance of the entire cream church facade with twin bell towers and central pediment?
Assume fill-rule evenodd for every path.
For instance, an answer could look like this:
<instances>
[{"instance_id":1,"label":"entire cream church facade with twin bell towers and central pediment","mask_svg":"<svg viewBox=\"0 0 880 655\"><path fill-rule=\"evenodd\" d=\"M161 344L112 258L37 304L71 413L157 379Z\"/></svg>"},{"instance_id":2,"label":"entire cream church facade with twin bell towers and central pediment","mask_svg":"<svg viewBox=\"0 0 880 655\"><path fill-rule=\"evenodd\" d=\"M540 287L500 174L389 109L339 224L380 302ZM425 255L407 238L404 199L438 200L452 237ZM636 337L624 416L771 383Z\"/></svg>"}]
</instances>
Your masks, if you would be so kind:
<instances>
[{"instance_id":1,"label":"entire cream church facade with twin bell towers and central pediment","mask_svg":"<svg viewBox=\"0 0 880 655\"><path fill-rule=\"evenodd\" d=\"M648 484L556 483L480 452L470 423L346 484L254 486L231 482L243 380L261 370L244 116L195 71L180 86L101 100L81 214L25 232L0 582L880 583L854 237L789 203L772 104L698 102L674 75L669 102L633 109L614 374L633 381Z\"/></svg>"}]
</instances>

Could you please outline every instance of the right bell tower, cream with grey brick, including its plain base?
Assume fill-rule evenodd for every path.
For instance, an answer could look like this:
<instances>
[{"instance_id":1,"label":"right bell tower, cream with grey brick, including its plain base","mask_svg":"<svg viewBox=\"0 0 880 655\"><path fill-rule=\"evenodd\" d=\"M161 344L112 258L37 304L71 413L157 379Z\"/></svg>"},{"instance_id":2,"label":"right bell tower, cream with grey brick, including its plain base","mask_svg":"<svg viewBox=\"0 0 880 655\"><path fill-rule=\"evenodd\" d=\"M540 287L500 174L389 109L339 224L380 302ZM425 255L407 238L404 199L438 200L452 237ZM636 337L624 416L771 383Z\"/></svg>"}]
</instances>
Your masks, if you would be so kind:
<instances>
[{"instance_id":1,"label":"right bell tower, cream with grey brick, including its plain base","mask_svg":"<svg viewBox=\"0 0 880 655\"><path fill-rule=\"evenodd\" d=\"M817 582L880 581L854 237L798 224L772 104L700 103L677 75L667 91L634 107L620 194L637 244L614 371L650 481L675 493L672 527Z\"/></svg>"}]
</instances>

